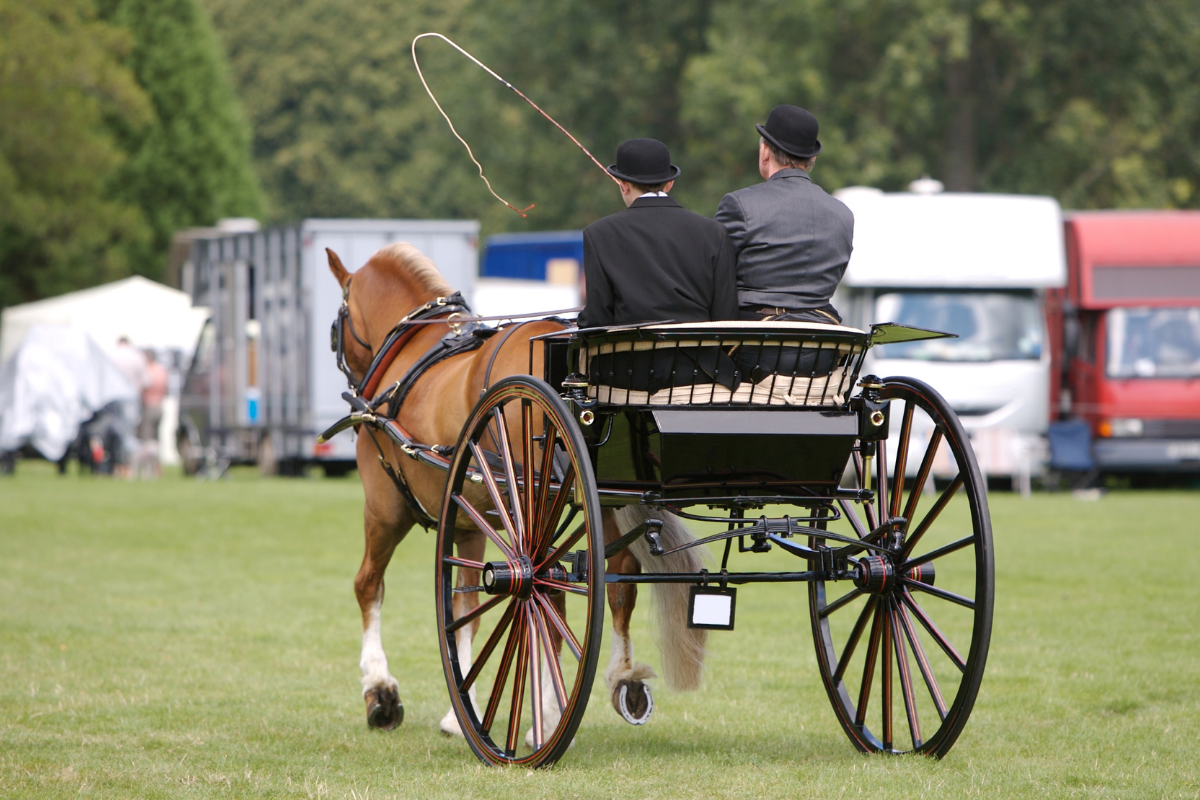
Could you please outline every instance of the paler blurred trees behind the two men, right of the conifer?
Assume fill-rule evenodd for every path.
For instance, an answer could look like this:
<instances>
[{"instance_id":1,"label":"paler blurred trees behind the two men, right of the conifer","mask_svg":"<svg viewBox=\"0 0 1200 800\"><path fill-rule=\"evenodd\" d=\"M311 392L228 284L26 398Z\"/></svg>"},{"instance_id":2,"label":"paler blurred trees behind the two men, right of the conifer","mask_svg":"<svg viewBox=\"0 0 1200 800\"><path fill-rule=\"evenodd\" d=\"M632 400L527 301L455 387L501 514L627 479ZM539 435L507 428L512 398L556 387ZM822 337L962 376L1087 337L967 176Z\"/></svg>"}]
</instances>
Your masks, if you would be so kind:
<instances>
[{"instance_id":1,"label":"paler blurred trees behind the two men, right of the conifer","mask_svg":"<svg viewBox=\"0 0 1200 800\"><path fill-rule=\"evenodd\" d=\"M425 40L422 67L498 191L418 82L409 43L455 38L604 162L650 136L674 193L712 213L760 180L755 122L821 121L815 180L1200 205L1194 0L204 0L281 218L467 216L485 231L581 227L620 207L604 174L506 89Z\"/></svg>"}]
</instances>

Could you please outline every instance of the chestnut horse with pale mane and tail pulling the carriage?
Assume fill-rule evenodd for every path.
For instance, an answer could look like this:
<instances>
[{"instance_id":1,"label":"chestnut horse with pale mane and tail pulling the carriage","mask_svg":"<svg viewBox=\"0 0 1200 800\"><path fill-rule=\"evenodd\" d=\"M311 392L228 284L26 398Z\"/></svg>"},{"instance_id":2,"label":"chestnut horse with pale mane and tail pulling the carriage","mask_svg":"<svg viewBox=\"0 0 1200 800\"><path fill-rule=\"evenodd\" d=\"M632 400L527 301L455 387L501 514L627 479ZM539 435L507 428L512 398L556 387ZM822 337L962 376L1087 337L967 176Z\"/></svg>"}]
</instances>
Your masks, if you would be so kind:
<instances>
[{"instance_id":1,"label":"chestnut horse with pale mane and tail pulling the carriage","mask_svg":"<svg viewBox=\"0 0 1200 800\"><path fill-rule=\"evenodd\" d=\"M346 296L344 315L337 321L342 326L338 337L344 348L346 368L355 383L361 383L374 354L398 320L425 303L436 302L438 297L454 293L433 263L407 243L389 245L377 252L362 269L354 272L353 281L350 272L332 251L329 251L329 266ZM464 421L490 385L508 375L527 374L529 339L563 327L562 323L553 320L524 323L516 330L506 329L504 333L492 336L479 349L436 363L407 396L396 421L416 441L442 445L456 443ZM446 333L448 324L418 327L396 354L382 380L372 384L392 385ZM542 371L540 348L534 348L533 371L536 375ZM367 723L373 728L390 729L402 721L403 705L400 702L398 684L388 672L388 657L380 640L384 572L396 546L424 512L410 507L409 500L388 474L384 461L388 467L398 471L409 487L413 500L422 509L433 510L433 513L442 507L446 476L434 467L408 458L398 446L374 429L364 426L360 433L358 465L366 494L366 548L362 566L354 581L354 591L362 609L362 656L359 666L362 669ZM662 517L666 523L660 534L666 549L692 541L677 518L661 512L654 516ZM605 541L620 539L623 531L632 530L644 518L646 513L637 506L616 512L605 511ZM470 524L466 515L460 515L460 521L456 524ZM478 529L464 527L456 530L455 543L458 558L482 560L486 541ZM653 571L696 572L703 566L698 549L684 549L666 558L656 558ZM649 561L648 546L644 540L637 539L629 549L608 559L607 570L637 572L641 564ZM464 570L460 573L460 587L464 583L467 587L479 584L478 571L474 575L469 575L470 572ZM696 688L703 672L704 631L685 627L688 588L679 584L655 584L654 590L656 632L666 682L677 690ZM647 664L634 661L629 622L637 600L637 587L612 584L607 588L607 595L612 612L612 657L605 670L605 682L613 706L628 721L640 724L653 710L653 698L644 681L655 676L655 673ZM455 616L462 618L479 604L478 591L456 594ZM458 657L466 657L468 664L473 634L472 625L460 627L456 633ZM556 648L557 644L556 642ZM552 711L553 703L548 698L542 698L542 705ZM440 727L445 733L462 734L452 709L442 720ZM528 745L532 740L527 736L526 741Z\"/></svg>"}]
</instances>

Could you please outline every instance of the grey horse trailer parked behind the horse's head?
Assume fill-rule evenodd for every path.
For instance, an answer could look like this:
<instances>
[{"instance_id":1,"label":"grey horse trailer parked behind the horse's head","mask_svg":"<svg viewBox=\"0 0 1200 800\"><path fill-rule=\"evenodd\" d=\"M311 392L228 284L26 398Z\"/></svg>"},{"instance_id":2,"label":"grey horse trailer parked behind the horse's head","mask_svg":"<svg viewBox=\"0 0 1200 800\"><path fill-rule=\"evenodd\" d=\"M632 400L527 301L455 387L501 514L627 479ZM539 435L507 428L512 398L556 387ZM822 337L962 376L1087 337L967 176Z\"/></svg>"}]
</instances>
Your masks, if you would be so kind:
<instances>
[{"instance_id":1,"label":"grey horse trailer parked behind the horse's head","mask_svg":"<svg viewBox=\"0 0 1200 800\"><path fill-rule=\"evenodd\" d=\"M180 398L176 443L185 469L257 463L266 474L354 468L349 437L318 444L342 416L346 379L329 353L342 302L325 248L350 271L390 242L428 255L463 295L478 270L472 219L306 219L298 225L185 231L178 282L210 311Z\"/></svg>"}]
</instances>

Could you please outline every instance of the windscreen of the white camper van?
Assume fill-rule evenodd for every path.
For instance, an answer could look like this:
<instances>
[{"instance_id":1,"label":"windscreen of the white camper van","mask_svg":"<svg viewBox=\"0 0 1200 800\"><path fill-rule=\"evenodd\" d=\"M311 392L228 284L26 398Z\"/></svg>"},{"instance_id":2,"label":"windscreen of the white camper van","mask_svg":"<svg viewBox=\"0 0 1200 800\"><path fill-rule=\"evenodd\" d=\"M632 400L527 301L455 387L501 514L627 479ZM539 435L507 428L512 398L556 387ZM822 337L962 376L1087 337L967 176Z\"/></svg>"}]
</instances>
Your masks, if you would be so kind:
<instances>
[{"instance_id":1,"label":"windscreen of the white camper van","mask_svg":"<svg viewBox=\"0 0 1200 800\"><path fill-rule=\"evenodd\" d=\"M1044 327L1037 299L1018 291L888 291L875 319L958 333L956 339L888 344L881 359L1014 361L1042 357Z\"/></svg>"}]
</instances>

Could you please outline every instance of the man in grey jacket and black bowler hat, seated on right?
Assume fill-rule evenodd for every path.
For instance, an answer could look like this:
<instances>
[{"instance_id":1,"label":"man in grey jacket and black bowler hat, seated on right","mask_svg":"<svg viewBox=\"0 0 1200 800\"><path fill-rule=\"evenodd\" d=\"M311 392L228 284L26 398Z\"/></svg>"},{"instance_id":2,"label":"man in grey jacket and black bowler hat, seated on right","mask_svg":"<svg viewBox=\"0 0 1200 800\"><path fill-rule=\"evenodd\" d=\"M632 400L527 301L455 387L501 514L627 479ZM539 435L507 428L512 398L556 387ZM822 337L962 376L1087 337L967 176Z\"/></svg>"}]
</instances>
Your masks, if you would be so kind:
<instances>
[{"instance_id":1,"label":"man in grey jacket and black bowler hat, seated on right","mask_svg":"<svg viewBox=\"0 0 1200 800\"><path fill-rule=\"evenodd\" d=\"M739 318L840 323L829 299L850 263L854 216L809 178L821 152L817 120L776 106L755 127L764 182L716 209L737 251Z\"/></svg>"}]
</instances>

